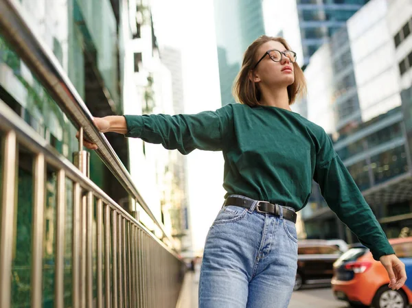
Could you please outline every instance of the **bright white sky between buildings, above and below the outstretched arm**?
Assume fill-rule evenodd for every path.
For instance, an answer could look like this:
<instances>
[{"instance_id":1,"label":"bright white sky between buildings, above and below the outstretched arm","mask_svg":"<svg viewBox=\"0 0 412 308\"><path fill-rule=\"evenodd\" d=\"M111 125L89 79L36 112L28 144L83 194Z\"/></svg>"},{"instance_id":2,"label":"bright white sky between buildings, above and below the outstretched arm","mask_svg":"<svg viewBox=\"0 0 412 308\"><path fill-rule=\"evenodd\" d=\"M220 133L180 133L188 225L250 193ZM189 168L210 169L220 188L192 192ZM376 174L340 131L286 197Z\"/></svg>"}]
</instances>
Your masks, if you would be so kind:
<instances>
[{"instance_id":1,"label":"bright white sky between buildings, above and below the outstretched arm","mask_svg":"<svg viewBox=\"0 0 412 308\"><path fill-rule=\"evenodd\" d=\"M152 0L152 13L160 47L182 53L185 113L220 108L213 1ZM187 156L195 253L203 251L209 227L224 201L223 163L221 152L195 150Z\"/></svg>"}]
</instances>

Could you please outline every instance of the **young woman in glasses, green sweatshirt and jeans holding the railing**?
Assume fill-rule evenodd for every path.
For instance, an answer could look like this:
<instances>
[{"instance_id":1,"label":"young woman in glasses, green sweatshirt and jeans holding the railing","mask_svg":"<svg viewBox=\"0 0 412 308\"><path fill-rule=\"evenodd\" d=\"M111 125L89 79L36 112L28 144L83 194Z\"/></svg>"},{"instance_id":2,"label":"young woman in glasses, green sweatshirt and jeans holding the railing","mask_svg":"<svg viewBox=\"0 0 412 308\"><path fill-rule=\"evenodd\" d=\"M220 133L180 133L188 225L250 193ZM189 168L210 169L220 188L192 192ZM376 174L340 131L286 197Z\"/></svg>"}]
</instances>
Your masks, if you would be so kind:
<instances>
[{"instance_id":1,"label":"young woman in glasses, green sweatshirt and jeans holding the railing","mask_svg":"<svg viewBox=\"0 0 412 308\"><path fill-rule=\"evenodd\" d=\"M312 179L332 211L385 266L389 287L399 289L407 279L328 135L290 110L305 90L295 52L283 38L261 36L244 54L234 86L241 104L197 115L95 118L101 132L183 154L223 152L227 194L205 243L201 308L288 307L297 270L295 212L308 202Z\"/></svg>"}]
</instances>

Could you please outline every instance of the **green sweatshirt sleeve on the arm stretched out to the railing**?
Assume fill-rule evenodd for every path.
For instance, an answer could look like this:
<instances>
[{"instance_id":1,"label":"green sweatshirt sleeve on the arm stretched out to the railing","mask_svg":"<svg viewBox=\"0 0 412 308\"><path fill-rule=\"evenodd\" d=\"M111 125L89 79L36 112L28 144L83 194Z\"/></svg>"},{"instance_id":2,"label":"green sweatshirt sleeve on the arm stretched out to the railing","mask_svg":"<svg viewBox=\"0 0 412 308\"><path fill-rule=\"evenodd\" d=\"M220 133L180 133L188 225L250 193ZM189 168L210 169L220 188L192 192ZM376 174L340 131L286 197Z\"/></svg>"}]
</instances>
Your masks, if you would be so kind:
<instances>
[{"instance_id":1,"label":"green sweatshirt sleeve on the arm stretched out to the railing","mask_svg":"<svg viewBox=\"0 0 412 308\"><path fill-rule=\"evenodd\" d=\"M219 151L230 121L228 108L196 115L124 115L126 137L158 143L168 150L189 154L195 149Z\"/></svg>"}]
</instances>

